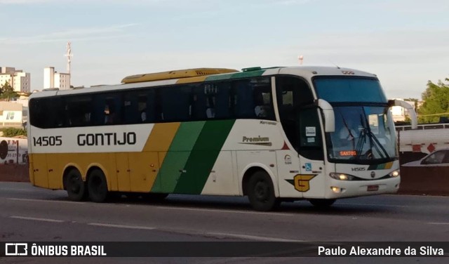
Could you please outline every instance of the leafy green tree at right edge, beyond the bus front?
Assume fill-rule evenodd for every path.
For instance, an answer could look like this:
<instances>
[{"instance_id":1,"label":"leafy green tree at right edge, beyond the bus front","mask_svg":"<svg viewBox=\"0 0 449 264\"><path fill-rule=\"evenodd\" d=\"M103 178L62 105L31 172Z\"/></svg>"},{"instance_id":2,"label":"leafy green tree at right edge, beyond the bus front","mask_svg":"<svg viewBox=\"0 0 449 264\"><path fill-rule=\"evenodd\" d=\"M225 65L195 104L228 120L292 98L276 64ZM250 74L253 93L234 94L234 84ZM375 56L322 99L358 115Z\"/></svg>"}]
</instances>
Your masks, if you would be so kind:
<instances>
[{"instance_id":1,"label":"leafy green tree at right edge, beyond the bus front","mask_svg":"<svg viewBox=\"0 0 449 264\"><path fill-rule=\"evenodd\" d=\"M449 81L446 78L445 81ZM436 123L442 116L449 116L449 84L439 80L438 84L427 82L427 89L422 93L424 104L418 112L420 123Z\"/></svg>"}]
</instances>

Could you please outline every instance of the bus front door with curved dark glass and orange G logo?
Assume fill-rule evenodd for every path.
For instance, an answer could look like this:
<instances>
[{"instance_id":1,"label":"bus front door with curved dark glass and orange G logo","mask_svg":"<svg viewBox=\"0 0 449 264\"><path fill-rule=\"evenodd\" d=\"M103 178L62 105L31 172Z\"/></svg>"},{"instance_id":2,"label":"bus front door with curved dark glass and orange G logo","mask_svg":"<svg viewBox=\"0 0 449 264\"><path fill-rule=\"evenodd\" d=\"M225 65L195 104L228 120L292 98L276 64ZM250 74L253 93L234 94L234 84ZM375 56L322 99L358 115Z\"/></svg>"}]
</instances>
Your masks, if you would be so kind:
<instances>
[{"instance_id":1,"label":"bus front door with curved dark glass and orange G logo","mask_svg":"<svg viewBox=\"0 0 449 264\"><path fill-rule=\"evenodd\" d=\"M298 77L276 77L276 100L286 140L277 151L280 195L323 197L323 140L311 90Z\"/></svg>"}]
</instances>

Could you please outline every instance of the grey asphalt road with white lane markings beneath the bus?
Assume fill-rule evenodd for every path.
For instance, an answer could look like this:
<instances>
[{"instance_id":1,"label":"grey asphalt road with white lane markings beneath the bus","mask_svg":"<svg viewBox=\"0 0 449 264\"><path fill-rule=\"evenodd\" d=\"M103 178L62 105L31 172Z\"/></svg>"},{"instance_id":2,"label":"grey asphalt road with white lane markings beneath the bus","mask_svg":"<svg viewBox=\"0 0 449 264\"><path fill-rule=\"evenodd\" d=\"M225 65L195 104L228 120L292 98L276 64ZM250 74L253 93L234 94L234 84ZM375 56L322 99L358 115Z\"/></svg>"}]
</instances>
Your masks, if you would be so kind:
<instances>
[{"instance_id":1,"label":"grey asphalt road with white lane markings beneath the bus","mask_svg":"<svg viewBox=\"0 0 449 264\"><path fill-rule=\"evenodd\" d=\"M63 191L0 183L6 242L448 242L449 197L382 195L252 211L243 197L69 202ZM0 258L0 263L446 263L449 258ZM79 261L79 262L77 262Z\"/></svg>"}]
</instances>

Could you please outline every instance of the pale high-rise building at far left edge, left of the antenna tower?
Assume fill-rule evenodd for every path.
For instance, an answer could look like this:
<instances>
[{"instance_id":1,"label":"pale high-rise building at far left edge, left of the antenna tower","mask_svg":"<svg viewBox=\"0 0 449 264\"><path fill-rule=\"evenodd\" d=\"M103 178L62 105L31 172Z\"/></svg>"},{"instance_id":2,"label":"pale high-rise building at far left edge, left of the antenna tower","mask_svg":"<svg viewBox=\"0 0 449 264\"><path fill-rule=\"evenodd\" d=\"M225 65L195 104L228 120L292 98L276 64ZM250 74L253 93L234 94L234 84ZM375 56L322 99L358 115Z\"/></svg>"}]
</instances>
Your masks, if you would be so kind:
<instances>
[{"instance_id":1,"label":"pale high-rise building at far left edge, left of the antenna tower","mask_svg":"<svg viewBox=\"0 0 449 264\"><path fill-rule=\"evenodd\" d=\"M31 76L28 72L15 70L14 67L0 67L0 86L8 83L15 92L29 93Z\"/></svg>"}]
</instances>

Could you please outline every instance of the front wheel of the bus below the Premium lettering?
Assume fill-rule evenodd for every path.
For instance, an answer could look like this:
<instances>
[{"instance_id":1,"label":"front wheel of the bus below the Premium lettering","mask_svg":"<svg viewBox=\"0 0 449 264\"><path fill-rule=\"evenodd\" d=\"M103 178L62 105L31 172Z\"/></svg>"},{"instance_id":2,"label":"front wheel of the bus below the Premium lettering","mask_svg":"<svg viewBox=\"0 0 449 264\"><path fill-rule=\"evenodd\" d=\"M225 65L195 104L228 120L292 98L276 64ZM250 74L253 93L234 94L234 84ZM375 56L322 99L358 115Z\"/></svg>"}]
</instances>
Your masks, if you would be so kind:
<instances>
[{"instance_id":1,"label":"front wheel of the bus below the Premium lettering","mask_svg":"<svg viewBox=\"0 0 449 264\"><path fill-rule=\"evenodd\" d=\"M272 211L279 205L274 195L272 178L265 171L256 171L248 181L248 199L256 211Z\"/></svg>"}]
</instances>

